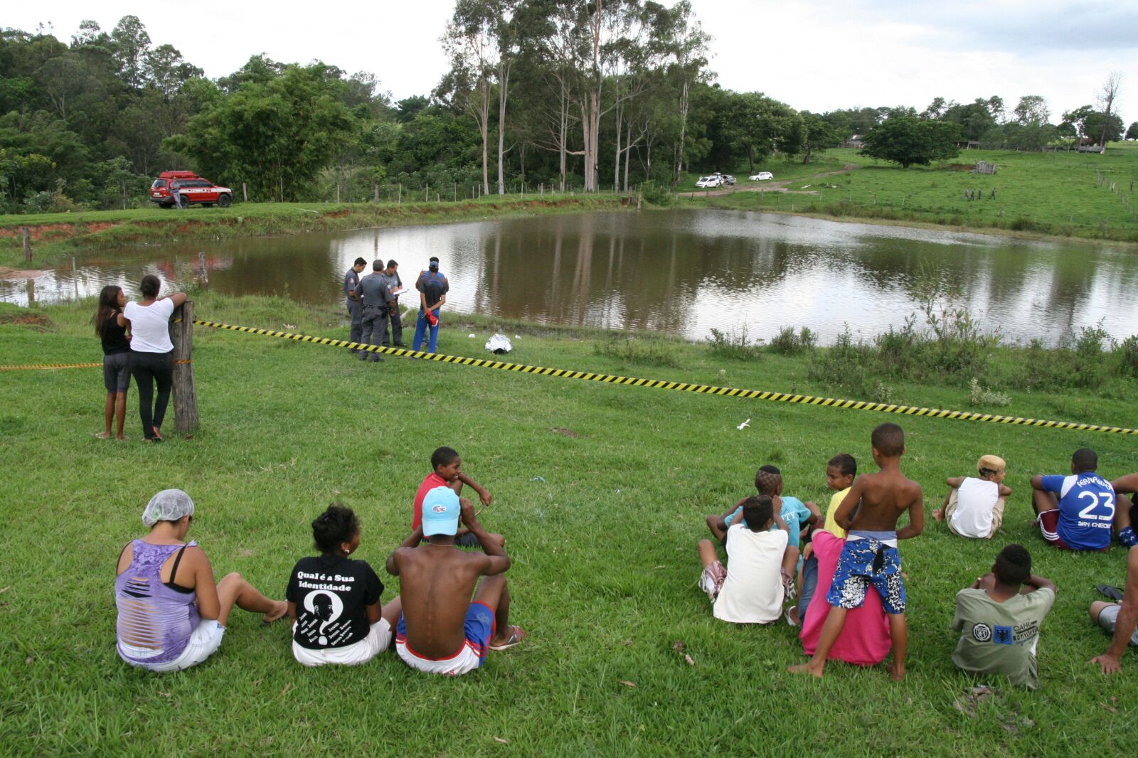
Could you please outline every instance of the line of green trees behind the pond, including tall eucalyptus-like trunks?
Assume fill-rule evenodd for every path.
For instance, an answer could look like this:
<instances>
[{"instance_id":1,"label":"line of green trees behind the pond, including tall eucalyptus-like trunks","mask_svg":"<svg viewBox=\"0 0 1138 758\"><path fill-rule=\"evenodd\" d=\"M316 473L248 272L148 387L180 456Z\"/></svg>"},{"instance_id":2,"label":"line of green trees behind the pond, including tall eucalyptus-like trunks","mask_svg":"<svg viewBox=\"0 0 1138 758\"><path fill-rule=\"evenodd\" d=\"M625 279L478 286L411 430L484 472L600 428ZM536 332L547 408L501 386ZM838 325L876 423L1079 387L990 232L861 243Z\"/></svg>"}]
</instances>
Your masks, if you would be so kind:
<instances>
[{"instance_id":1,"label":"line of green trees behind the pond, including tall eucalyptus-like trunks","mask_svg":"<svg viewBox=\"0 0 1138 758\"><path fill-rule=\"evenodd\" d=\"M395 186L467 197L673 186L773 155L809 162L852 135L905 166L951 157L962 140L1122 137L1121 77L1058 124L1038 96L1011 112L992 97L811 114L726 90L687 0L456 0L442 43L448 69L434 91L395 101L371 73L263 55L211 80L135 16L110 32L83 22L69 43L2 30L0 212L135 207L175 168L244 186L250 200L362 200Z\"/></svg>"}]
</instances>

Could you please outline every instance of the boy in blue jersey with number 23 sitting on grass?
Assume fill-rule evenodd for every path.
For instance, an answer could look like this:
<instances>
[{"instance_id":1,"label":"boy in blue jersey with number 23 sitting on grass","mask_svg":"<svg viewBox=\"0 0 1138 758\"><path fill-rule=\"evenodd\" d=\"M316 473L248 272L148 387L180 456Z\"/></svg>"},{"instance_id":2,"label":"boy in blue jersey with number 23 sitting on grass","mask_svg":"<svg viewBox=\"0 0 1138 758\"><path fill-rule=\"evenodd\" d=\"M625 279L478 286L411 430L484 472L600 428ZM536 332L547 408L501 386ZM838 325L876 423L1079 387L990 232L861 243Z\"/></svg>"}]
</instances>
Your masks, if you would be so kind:
<instances>
[{"instance_id":1,"label":"boy in blue jersey with number 23 sitting on grass","mask_svg":"<svg viewBox=\"0 0 1138 758\"><path fill-rule=\"evenodd\" d=\"M1031 478L1031 505L1044 539L1061 550L1106 550L1114 528L1114 488L1098 476L1098 455L1080 447L1071 476Z\"/></svg>"}]
</instances>

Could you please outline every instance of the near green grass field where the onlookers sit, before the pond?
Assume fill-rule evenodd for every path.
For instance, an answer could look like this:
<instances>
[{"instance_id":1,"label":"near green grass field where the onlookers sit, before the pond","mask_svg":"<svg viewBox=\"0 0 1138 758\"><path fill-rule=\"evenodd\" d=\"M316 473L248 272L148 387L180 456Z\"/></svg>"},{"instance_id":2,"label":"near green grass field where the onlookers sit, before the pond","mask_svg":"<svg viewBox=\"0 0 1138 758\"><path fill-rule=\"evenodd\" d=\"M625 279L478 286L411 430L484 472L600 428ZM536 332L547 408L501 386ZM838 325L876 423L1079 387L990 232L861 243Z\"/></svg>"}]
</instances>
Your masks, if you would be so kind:
<instances>
[{"instance_id":1,"label":"near green grass field where the onlookers sit, before the pond","mask_svg":"<svg viewBox=\"0 0 1138 758\"><path fill-rule=\"evenodd\" d=\"M282 299L196 296L197 315L345 338L343 314ZM0 364L98 362L90 303L28 316L0 310ZM50 322L40 321L47 316ZM34 323L18 323L32 319ZM440 352L485 354L495 329L511 360L624 376L831 394L806 359L718 357L706 345L525 328L447 315ZM470 339L468 333L476 333ZM618 357L624 354L626 357ZM1013 355L1001 360L1013 361ZM1089 659L1106 636L1089 623L1094 585L1123 579L1124 553L1063 554L1029 525L1026 479L1063 472L1089 445L1108 478L1138 469L1138 438L612 386L388 357L198 329L201 429L192 440L93 438L97 369L0 373L0 752L32 755L1130 755L1138 657L1104 678ZM999 412L1138 426L1133 380L1110 392L1015 393ZM1121 384L1120 384L1121 382ZM132 393L129 402L135 402ZM898 384L894 402L967 407L967 390ZM739 430L744 419L751 426ZM825 461L869 463L869 430L899 420L906 472L929 508L947 476L981 453L1009 463L1015 493L990 543L930 525L901 546L908 574L908 676L832 665L817 682L795 632L716 621L696 587L703 517L752 491L756 468L782 468L787 494L824 502ZM331 501L363 522L358 558L382 571L438 445L494 494L484 524L508 537L511 620L530 638L459 679L409 670L385 653L355 669L304 669L284 625L234 611L221 651L150 675L115 653L114 559L142 534L154 492L198 505L191 536L218 575L241 571L283 593L311 551L310 521ZM976 682L949 661L955 592L1007 542L1033 553L1058 600L1039 644L1042 686L1007 687L972 707ZM674 649L682 642L690 654ZM635 686L632 686L632 683ZM963 710L956 705L959 703Z\"/></svg>"}]
</instances>

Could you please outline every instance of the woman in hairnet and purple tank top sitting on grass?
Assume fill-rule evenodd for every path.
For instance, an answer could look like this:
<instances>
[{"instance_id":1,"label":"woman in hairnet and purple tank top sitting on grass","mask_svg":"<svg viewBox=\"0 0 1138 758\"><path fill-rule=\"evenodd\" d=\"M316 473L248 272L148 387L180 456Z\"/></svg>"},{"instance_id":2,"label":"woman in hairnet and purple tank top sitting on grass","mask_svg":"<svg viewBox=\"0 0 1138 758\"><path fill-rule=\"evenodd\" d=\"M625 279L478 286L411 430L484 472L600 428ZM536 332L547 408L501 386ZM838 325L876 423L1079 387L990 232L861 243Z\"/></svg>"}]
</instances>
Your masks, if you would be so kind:
<instances>
[{"instance_id":1,"label":"woman in hairnet and purple tank top sitting on grass","mask_svg":"<svg viewBox=\"0 0 1138 758\"><path fill-rule=\"evenodd\" d=\"M123 547L115 579L118 656L151 672L178 672L212 656L225 634L229 612L263 613L271 624L288 603L270 600L240 574L214 585L213 568L196 542L185 542L193 501L163 489L142 511L150 533Z\"/></svg>"}]
</instances>

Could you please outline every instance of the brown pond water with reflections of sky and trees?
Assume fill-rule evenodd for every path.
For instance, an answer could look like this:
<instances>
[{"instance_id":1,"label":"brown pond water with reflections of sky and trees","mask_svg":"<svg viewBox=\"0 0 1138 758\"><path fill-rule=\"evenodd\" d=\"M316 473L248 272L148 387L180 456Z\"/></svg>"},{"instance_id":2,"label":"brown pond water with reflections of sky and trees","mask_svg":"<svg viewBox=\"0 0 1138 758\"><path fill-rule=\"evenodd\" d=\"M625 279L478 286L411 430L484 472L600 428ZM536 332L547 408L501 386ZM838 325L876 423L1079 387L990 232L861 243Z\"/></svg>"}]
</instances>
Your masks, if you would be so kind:
<instances>
[{"instance_id":1,"label":"brown pond water with reflections of sky and trees","mask_svg":"<svg viewBox=\"0 0 1138 758\"><path fill-rule=\"evenodd\" d=\"M869 336L900 324L930 273L958 288L981 328L1024 341L1102 322L1138 332L1138 254L1087 242L1009 240L733 211L655 211L512 219L284 238L100 250L35 280L0 281L26 304L130 295L145 273L209 287L341 302L357 257L394 258L409 285L437 255L447 310L539 322L652 330L702 339L710 329L769 338L807 326L823 341L844 324Z\"/></svg>"}]
</instances>

